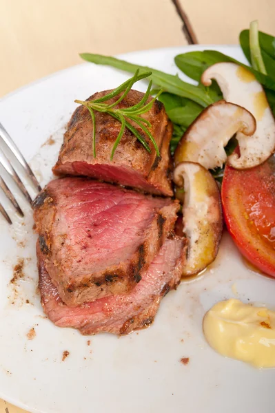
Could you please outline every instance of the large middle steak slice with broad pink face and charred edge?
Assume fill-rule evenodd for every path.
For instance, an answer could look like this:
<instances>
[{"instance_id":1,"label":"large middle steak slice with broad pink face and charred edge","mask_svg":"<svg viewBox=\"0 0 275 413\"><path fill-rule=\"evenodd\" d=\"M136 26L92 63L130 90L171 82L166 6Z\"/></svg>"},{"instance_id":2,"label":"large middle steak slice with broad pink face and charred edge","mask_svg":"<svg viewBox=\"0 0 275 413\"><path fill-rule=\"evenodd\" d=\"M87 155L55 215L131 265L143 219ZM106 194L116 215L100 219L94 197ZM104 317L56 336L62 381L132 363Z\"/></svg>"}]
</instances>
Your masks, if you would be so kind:
<instances>
[{"instance_id":1,"label":"large middle steak slice with broad pink face and charred edge","mask_svg":"<svg viewBox=\"0 0 275 413\"><path fill-rule=\"evenodd\" d=\"M85 178L53 180L34 200L39 245L68 306L128 294L174 228L179 203Z\"/></svg>"}]
</instances>

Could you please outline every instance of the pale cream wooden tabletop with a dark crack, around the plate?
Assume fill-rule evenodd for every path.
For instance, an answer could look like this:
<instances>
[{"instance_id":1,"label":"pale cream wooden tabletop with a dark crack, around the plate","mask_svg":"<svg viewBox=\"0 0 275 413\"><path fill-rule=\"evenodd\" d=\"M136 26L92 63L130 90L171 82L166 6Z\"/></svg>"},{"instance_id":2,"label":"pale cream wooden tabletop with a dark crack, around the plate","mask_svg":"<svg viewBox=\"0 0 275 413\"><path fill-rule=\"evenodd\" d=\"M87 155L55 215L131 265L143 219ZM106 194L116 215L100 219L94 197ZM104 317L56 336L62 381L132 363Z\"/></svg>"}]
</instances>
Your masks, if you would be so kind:
<instances>
[{"instance_id":1,"label":"pale cream wooden tabletop with a dark crack, around the plate","mask_svg":"<svg viewBox=\"0 0 275 413\"><path fill-rule=\"evenodd\" d=\"M275 32L274 0L180 1L199 43L238 43L254 19ZM0 21L0 96L81 63L79 52L187 44L172 0L0 0ZM0 413L22 412L0 399Z\"/></svg>"}]
</instances>

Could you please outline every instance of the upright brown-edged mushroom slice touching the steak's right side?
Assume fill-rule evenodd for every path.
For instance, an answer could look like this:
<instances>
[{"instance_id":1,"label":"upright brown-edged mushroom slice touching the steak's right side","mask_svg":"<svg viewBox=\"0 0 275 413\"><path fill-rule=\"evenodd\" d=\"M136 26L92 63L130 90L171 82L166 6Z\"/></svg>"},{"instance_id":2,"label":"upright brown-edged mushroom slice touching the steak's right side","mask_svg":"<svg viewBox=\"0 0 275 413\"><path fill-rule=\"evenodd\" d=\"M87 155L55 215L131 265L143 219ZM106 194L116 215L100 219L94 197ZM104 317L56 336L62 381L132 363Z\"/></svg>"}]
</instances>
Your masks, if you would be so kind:
<instances>
[{"instance_id":1,"label":"upright brown-edged mushroom slice touching the steak's right side","mask_svg":"<svg viewBox=\"0 0 275 413\"><path fill-rule=\"evenodd\" d=\"M218 253L223 230L221 196L211 173L194 162L181 162L174 183L184 188L183 233L188 240L183 277L203 271Z\"/></svg>"}]
</instances>

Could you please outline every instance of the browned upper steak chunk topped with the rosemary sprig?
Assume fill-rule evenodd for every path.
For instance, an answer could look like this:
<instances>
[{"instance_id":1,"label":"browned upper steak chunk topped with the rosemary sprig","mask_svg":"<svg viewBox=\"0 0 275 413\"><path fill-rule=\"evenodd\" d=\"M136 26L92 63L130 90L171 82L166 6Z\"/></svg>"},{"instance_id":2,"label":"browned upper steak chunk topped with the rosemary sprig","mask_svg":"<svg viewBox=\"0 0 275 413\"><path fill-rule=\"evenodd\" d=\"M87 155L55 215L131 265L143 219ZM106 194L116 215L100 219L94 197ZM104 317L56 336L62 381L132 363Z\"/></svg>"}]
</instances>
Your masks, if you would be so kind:
<instances>
[{"instance_id":1,"label":"browned upper steak chunk topped with the rosemary sprig","mask_svg":"<svg viewBox=\"0 0 275 413\"><path fill-rule=\"evenodd\" d=\"M110 91L96 93L88 100L100 98L108 92ZM135 105L143 96L143 93L131 90L118 107ZM118 96L108 100L108 103L114 103L117 98ZM88 109L81 106L76 109L68 124L59 160L53 168L54 173L57 175L90 176L157 195L172 196L169 151L172 124L167 118L163 104L156 101L152 109L142 115L152 125L149 129L159 147L160 157L156 156L152 142L142 129L132 123L147 141L151 153L148 153L132 132L126 128L111 161L112 147L121 129L121 123L108 114L94 113L96 118L96 158L93 156L91 116Z\"/></svg>"}]
</instances>

